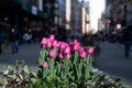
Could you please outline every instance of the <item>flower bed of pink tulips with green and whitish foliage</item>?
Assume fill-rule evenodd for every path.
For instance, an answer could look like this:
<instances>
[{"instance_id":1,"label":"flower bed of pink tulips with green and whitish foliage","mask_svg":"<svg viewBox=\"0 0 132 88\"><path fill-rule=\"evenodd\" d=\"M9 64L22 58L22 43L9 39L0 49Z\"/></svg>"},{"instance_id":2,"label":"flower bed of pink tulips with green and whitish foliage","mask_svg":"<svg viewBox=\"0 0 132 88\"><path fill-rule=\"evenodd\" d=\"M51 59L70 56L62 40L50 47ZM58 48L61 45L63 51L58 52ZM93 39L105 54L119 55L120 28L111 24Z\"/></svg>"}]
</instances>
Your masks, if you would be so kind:
<instances>
[{"instance_id":1,"label":"flower bed of pink tulips with green and whitish foliage","mask_svg":"<svg viewBox=\"0 0 132 88\"><path fill-rule=\"evenodd\" d=\"M6 87L10 84L11 88L124 88L118 79L95 72L94 52L92 46L84 48L77 40L65 43L54 35L43 37L37 76L28 66L12 74L7 73L9 68L3 73L6 82L0 84Z\"/></svg>"}]
</instances>

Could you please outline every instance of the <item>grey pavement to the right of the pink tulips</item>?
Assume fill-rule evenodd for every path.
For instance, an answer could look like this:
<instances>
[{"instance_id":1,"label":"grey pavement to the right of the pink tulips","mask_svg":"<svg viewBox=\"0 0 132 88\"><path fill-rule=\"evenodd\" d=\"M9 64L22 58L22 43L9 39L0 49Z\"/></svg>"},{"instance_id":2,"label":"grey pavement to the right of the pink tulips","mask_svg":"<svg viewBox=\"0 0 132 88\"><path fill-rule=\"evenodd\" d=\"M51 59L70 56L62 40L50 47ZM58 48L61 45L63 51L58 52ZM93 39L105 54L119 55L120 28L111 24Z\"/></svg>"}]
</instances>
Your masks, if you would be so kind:
<instances>
[{"instance_id":1,"label":"grey pavement to the right of the pink tulips","mask_svg":"<svg viewBox=\"0 0 132 88\"><path fill-rule=\"evenodd\" d=\"M123 45L100 43L101 54L96 59L95 67L121 78L127 85L132 85L132 52L129 58L124 57Z\"/></svg>"}]
</instances>

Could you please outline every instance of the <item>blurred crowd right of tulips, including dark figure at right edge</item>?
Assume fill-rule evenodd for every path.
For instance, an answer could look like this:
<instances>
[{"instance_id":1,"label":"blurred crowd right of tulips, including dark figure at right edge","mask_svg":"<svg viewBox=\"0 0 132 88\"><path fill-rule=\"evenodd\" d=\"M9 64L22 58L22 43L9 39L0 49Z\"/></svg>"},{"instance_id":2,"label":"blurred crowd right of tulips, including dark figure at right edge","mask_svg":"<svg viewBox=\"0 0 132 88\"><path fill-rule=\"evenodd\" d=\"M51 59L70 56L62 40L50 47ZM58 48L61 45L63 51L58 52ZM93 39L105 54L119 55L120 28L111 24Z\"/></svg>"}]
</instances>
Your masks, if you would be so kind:
<instances>
[{"instance_id":1,"label":"blurred crowd right of tulips, including dark figure at right edge","mask_svg":"<svg viewBox=\"0 0 132 88\"><path fill-rule=\"evenodd\" d=\"M130 52L132 51L132 26L127 26L122 30L99 32L98 41L123 44L124 57L130 57Z\"/></svg>"}]
</instances>

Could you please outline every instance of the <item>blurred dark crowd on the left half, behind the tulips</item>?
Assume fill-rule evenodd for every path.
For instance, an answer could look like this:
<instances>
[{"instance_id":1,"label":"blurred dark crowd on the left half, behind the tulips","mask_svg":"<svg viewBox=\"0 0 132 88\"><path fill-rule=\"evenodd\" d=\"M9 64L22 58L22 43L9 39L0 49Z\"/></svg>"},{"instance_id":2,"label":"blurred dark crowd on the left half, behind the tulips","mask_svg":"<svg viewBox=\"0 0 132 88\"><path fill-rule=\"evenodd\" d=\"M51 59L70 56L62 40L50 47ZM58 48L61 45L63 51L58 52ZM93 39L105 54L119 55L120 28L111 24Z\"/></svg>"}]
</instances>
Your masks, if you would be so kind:
<instances>
[{"instance_id":1,"label":"blurred dark crowd on the left half, behind the tulips","mask_svg":"<svg viewBox=\"0 0 132 88\"><path fill-rule=\"evenodd\" d=\"M0 54L4 50L10 50L12 54L15 54L19 52L20 44L40 42L42 37L48 37L51 34L54 34L56 40L66 41L67 33L64 26L58 28L57 25L46 25L37 29L24 28L23 31L18 28L0 28Z\"/></svg>"}]
</instances>

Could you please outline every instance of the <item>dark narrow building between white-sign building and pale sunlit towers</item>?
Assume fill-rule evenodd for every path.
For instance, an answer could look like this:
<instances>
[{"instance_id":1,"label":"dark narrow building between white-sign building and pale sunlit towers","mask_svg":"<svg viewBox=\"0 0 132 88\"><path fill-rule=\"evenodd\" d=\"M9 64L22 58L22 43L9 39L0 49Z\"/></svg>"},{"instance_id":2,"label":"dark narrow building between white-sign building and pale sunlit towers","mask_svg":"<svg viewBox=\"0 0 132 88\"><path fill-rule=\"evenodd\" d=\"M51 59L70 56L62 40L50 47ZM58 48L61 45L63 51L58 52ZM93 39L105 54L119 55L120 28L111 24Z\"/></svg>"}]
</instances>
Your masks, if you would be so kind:
<instances>
[{"instance_id":1,"label":"dark narrow building between white-sign building and pale sunlit towers","mask_svg":"<svg viewBox=\"0 0 132 88\"><path fill-rule=\"evenodd\" d=\"M44 23L58 24L58 1L59 0L43 0Z\"/></svg>"}]
</instances>

